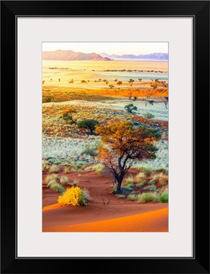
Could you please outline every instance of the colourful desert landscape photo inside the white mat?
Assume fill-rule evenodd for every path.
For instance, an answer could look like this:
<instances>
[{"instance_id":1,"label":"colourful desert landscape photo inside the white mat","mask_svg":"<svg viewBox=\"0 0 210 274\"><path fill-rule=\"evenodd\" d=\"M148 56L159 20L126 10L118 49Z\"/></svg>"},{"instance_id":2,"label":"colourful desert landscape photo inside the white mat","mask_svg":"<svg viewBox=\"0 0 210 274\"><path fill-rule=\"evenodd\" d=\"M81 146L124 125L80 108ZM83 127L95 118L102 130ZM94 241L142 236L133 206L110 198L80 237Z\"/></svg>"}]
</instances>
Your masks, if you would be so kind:
<instances>
[{"instance_id":1,"label":"colourful desert landscape photo inside the white mat","mask_svg":"<svg viewBox=\"0 0 210 274\"><path fill-rule=\"evenodd\" d=\"M168 232L168 43L42 43L42 232Z\"/></svg>"}]
</instances>

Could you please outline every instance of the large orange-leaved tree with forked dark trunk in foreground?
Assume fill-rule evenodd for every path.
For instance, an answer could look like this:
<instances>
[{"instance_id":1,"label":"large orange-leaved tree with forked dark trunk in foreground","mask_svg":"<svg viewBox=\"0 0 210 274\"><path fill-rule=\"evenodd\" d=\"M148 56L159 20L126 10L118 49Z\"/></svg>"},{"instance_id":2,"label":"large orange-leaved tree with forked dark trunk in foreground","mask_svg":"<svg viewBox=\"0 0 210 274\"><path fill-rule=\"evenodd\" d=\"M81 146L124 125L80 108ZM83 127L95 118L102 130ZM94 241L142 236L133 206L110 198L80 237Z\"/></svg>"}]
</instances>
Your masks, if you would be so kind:
<instances>
[{"instance_id":1,"label":"large orange-leaved tree with forked dark trunk in foreground","mask_svg":"<svg viewBox=\"0 0 210 274\"><path fill-rule=\"evenodd\" d=\"M161 135L149 127L134 128L133 123L121 121L96 127L103 145L99 147L98 158L109 169L117 183L116 194L120 194L124 175L136 160L154 160L158 150L154 142Z\"/></svg>"}]
</instances>

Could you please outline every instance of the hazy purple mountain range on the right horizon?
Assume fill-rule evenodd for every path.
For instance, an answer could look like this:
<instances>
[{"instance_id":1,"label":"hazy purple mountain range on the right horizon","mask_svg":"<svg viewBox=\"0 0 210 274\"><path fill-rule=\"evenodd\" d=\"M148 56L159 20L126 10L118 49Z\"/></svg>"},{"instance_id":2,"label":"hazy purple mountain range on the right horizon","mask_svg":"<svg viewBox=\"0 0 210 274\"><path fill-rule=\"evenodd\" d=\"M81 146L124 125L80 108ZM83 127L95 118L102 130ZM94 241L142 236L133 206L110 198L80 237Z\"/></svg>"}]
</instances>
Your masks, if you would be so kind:
<instances>
[{"instance_id":1,"label":"hazy purple mountain range on the right horizon","mask_svg":"<svg viewBox=\"0 0 210 274\"><path fill-rule=\"evenodd\" d=\"M168 53L150 53L150 54L140 54L140 55L133 55L133 54L107 54L105 52L99 53L104 58L116 58L116 59L153 59L153 60L168 60Z\"/></svg>"}]
</instances>

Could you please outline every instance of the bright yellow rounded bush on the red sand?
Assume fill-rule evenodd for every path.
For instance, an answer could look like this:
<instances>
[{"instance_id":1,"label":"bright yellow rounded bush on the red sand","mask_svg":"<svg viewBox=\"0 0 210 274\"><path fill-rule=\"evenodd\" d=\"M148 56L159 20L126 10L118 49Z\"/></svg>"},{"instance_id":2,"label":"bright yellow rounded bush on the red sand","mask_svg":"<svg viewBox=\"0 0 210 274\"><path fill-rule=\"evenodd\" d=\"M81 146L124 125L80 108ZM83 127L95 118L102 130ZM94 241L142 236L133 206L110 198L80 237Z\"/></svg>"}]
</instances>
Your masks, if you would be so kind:
<instances>
[{"instance_id":1,"label":"bright yellow rounded bush on the red sand","mask_svg":"<svg viewBox=\"0 0 210 274\"><path fill-rule=\"evenodd\" d=\"M64 194L58 197L58 203L69 206L87 206L90 196L87 190L82 190L79 186L67 188Z\"/></svg>"}]
</instances>

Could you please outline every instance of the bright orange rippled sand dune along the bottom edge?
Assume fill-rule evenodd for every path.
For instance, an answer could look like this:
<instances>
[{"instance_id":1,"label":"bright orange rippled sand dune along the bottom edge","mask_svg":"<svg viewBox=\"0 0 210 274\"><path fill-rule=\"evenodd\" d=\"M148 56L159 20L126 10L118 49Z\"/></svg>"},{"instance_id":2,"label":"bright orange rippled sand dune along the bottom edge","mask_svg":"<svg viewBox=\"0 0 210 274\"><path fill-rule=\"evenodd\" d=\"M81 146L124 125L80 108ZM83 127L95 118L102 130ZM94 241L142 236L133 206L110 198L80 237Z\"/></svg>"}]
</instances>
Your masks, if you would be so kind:
<instances>
[{"instance_id":1,"label":"bright orange rippled sand dune along the bottom edge","mask_svg":"<svg viewBox=\"0 0 210 274\"><path fill-rule=\"evenodd\" d=\"M54 210L50 210L53 214ZM43 232L168 232L168 208L133 216L81 223L44 226Z\"/></svg>"}]
</instances>

